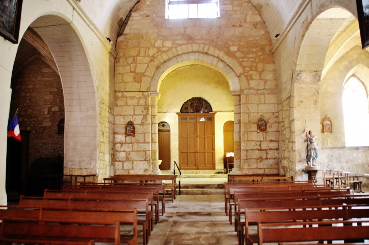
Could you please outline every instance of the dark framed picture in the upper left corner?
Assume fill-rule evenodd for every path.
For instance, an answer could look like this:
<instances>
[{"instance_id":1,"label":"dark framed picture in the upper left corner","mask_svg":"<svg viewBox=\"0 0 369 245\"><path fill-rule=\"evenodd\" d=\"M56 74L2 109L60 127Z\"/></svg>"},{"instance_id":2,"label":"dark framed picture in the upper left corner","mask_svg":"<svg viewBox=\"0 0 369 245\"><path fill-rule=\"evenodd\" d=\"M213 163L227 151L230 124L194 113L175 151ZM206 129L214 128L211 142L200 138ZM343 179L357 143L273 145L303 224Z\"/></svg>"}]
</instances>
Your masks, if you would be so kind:
<instances>
[{"instance_id":1,"label":"dark framed picture in the upper left corner","mask_svg":"<svg viewBox=\"0 0 369 245\"><path fill-rule=\"evenodd\" d=\"M18 43L22 0L0 0L0 35Z\"/></svg>"}]
</instances>

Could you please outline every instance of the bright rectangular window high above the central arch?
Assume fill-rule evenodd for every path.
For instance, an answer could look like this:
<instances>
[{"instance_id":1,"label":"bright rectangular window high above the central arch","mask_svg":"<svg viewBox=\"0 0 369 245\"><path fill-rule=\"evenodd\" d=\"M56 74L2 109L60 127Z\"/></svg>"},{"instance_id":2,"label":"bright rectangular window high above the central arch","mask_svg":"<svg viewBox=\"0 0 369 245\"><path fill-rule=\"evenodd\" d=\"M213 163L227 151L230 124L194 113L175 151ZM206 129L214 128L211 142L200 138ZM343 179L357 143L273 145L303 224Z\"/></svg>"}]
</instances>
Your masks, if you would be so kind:
<instances>
[{"instance_id":1,"label":"bright rectangular window high above the central arch","mask_svg":"<svg viewBox=\"0 0 369 245\"><path fill-rule=\"evenodd\" d=\"M165 0L166 19L217 18L219 0Z\"/></svg>"}]
</instances>

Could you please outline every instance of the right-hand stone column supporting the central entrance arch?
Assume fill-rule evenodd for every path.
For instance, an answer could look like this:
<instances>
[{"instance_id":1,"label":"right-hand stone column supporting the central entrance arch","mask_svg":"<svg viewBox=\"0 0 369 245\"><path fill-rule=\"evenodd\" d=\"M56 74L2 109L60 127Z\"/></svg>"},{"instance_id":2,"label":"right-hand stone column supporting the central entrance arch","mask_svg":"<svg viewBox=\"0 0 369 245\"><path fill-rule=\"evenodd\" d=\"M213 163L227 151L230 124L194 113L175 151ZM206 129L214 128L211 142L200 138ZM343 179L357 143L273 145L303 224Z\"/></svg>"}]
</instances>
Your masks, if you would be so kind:
<instances>
[{"instance_id":1,"label":"right-hand stone column supporting the central entrance arch","mask_svg":"<svg viewBox=\"0 0 369 245\"><path fill-rule=\"evenodd\" d=\"M233 159L233 169L230 174L241 174L241 92L232 91L233 105L234 105L234 145L233 151L235 153Z\"/></svg>"}]
</instances>

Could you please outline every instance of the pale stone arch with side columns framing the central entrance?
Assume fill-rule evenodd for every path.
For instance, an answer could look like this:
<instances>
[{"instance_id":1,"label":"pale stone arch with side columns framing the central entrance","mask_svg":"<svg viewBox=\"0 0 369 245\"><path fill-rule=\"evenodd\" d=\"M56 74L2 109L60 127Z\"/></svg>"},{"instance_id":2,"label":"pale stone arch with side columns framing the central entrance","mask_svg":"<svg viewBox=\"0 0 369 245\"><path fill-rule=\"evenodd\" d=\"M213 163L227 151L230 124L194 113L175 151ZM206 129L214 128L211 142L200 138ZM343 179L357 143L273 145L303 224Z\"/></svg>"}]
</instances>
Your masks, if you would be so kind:
<instances>
[{"instance_id":1,"label":"pale stone arch with side columns framing the central entrance","mask_svg":"<svg viewBox=\"0 0 369 245\"><path fill-rule=\"evenodd\" d=\"M182 67L188 64L204 65L213 68L224 75L227 79L232 96L234 99L234 173L238 173L241 167L241 92L240 92L240 79L238 73L235 71L239 70L239 66L236 62L231 63L236 66L232 68L223 60L216 56L204 54L200 52L190 52L185 54L180 54L171 58L168 58L155 70L151 83L150 83L150 106L151 106L151 163L153 173L160 173L158 166L158 128L157 128L157 114L158 114L158 99L160 94L158 93L161 81L173 70L178 67Z\"/></svg>"}]
</instances>

